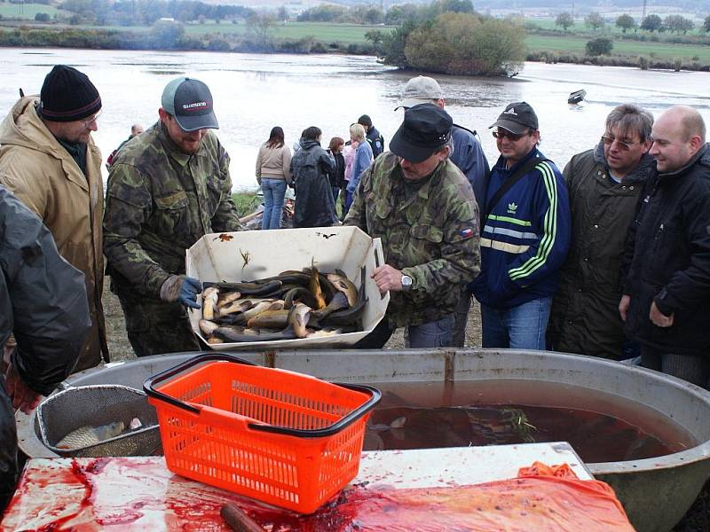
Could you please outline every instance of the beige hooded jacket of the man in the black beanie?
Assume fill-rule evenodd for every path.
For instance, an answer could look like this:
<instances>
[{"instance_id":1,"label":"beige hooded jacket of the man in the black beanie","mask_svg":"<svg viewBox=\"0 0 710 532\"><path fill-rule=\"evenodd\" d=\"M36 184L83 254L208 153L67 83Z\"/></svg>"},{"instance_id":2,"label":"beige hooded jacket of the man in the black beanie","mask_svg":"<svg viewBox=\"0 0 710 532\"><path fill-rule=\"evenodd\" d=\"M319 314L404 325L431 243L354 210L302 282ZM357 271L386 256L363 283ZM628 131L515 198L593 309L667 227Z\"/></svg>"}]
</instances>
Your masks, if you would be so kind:
<instances>
[{"instance_id":1,"label":"beige hooded jacket of the man in the black beanie","mask_svg":"<svg viewBox=\"0 0 710 532\"><path fill-rule=\"evenodd\" d=\"M75 372L108 360L101 292L104 283L101 218L104 190L101 153L90 141L86 172L59 145L35 111L38 97L25 97L0 123L0 184L42 218L57 249L85 276L91 332Z\"/></svg>"}]
</instances>

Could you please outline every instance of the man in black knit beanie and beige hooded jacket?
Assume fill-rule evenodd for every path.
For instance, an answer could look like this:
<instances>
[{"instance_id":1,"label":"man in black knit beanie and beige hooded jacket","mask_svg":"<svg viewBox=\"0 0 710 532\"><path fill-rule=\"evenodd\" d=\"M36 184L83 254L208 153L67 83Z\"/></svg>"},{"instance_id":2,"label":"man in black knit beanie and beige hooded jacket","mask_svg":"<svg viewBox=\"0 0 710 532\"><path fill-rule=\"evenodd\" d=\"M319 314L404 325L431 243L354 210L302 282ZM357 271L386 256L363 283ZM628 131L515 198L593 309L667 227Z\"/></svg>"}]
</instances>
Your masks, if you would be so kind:
<instances>
[{"instance_id":1,"label":"man in black knit beanie and beige hooded jacket","mask_svg":"<svg viewBox=\"0 0 710 532\"><path fill-rule=\"evenodd\" d=\"M20 98L0 124L0 184L39 215L59 254L84 274L91 332L77 372L102 356L108 361L101 305L104 191L101 153L91 138L100 112L99 91L87 75L56 65L39 98Z\"/></svg>"}]
</instances>

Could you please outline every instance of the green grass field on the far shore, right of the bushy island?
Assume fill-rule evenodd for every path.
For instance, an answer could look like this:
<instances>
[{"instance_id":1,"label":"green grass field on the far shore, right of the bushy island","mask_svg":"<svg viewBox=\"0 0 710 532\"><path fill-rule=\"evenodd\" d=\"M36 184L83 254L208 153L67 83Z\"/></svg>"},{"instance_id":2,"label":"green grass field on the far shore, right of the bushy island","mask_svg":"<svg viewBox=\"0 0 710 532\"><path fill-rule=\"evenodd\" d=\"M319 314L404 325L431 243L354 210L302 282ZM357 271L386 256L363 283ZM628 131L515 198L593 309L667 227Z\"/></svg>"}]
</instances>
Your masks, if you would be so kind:
<instances>
[{"instance_id":1,"label":"green grass field on the far shore, right of the bushy island","mask_svg":"<svg viewBox=\"0 0 710 532\"><path fill-rule=\"evenodd\" d=\"M527 35L525 44L528 51L558 51L583 55L587 45L587 37ZM697 57L699 61L710 62L710 46L692 44L651 43L649 41L614 41L611 51L615 55L645 55L651 53L659 59L691 59Z\"/></svg>"}]
</instances>

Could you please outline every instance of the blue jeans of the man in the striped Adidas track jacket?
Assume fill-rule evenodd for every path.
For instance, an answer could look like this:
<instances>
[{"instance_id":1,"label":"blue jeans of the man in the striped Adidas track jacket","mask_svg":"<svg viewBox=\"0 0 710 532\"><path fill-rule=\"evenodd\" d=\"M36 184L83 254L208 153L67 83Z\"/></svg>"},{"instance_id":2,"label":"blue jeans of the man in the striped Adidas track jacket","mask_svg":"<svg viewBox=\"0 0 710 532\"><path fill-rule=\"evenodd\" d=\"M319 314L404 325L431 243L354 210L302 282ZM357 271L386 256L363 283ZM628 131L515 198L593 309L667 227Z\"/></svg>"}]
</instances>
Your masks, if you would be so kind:
<instances>
[{"instance_id":1,"label":"blue jeans of the man in the striped Adidas track jacket","mask_svg":"<svg viewBox=\"0 0 710 532\"><path fill-rule=\"evenodd\" d=\"M528 301L512 309L481 304L484 348L545 349L552 297Z\"/></svg>"}]
</instances>

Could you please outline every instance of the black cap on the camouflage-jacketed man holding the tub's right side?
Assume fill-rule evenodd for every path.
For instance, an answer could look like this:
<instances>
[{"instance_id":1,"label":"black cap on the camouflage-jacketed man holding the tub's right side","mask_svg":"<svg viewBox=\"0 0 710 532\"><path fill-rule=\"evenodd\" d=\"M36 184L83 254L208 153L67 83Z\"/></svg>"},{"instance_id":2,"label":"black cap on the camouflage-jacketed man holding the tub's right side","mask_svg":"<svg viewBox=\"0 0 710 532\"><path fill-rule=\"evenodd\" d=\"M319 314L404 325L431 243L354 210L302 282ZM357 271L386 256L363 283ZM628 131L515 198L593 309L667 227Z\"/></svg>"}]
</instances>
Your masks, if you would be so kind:
<instances>
[{"instance_id":1,"label":"black cap on the camouflage-jacketed man holding the tub's right side","mask_svg":"<svg viewBox=\"0 0 710 532\"><path fill-rule=\"evenodd\" d=\"M451 139L454 121L434 104L420 104L405 111L405 121L390 142L390 151L409 162L422 162Z\"/></svg>"}]
</instances>

